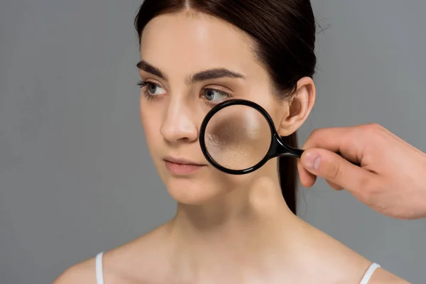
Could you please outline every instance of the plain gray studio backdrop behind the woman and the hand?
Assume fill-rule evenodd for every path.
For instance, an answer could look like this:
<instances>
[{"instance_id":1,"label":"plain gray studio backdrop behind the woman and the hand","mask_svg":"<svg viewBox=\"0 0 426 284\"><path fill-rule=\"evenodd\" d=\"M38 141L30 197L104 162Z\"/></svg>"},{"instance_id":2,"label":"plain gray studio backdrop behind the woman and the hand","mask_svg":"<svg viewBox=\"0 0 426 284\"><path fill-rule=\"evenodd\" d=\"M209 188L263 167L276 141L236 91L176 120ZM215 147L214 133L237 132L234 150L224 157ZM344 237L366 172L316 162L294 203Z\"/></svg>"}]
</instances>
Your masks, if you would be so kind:
<instances>
[{"instance_id":1,"label":"plain gray studio backdrop behind the woman and the hand","mask_svg":"<svg viewBox=\"0 0 426 284\"><path fill-rule=\"evenodd\" d=\"M317 104L300 129L377 122L426 151L425 1L313 0ZM0 4L0 283L51 283L173 216L138 114L140 1ZM300 216L424 283L426 220L383 217L325 182Z\"/></svg>"}]
</instances>

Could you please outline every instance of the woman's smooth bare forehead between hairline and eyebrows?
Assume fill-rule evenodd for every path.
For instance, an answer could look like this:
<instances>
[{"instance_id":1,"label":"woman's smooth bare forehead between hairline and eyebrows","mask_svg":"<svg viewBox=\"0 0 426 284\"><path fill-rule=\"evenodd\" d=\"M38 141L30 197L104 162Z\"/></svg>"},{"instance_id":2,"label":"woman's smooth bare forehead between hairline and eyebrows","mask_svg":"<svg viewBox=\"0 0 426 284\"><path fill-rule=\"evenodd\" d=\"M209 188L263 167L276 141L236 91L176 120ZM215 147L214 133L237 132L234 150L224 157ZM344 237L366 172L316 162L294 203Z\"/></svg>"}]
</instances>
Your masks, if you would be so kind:
<instances>
[{"instance_id":1,"label":"woman's smooth bare forehead between hairline and eyebrows","mask_svg":"<svg viewBox=\"0 0 426 284\"><path fill-rule=\"evenodd\" d=\"M202 13L167 13L143 30L141 59L165 72L200 72L227 67L246 77L258 76L259 62L248 35Z\"/></svg>"}]
</instances>

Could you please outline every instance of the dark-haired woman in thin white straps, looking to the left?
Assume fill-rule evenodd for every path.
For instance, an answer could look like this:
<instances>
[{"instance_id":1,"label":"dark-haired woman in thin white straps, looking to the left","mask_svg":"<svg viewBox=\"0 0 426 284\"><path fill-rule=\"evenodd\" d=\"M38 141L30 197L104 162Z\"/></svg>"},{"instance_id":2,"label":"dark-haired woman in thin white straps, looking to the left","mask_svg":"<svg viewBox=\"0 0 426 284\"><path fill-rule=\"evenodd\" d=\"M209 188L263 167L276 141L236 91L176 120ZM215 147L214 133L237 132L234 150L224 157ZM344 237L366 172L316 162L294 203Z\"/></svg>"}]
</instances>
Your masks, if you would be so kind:
<instances>
[{"instance_id":1,"label":"dark-haired woman in thin white straps, looking to the left","mask_svg":"<svg viewBox=\"0 0 426 284\"><path fill-rule=\"evenodd\" d=\"M295 160L236 176L202 155L202 119L229 98L260 104L297 146L315 102L309 0L146 0L135 24L141 122L178 212L55 283L406 283L295 215Z\"/></svg>"}]
</instances>

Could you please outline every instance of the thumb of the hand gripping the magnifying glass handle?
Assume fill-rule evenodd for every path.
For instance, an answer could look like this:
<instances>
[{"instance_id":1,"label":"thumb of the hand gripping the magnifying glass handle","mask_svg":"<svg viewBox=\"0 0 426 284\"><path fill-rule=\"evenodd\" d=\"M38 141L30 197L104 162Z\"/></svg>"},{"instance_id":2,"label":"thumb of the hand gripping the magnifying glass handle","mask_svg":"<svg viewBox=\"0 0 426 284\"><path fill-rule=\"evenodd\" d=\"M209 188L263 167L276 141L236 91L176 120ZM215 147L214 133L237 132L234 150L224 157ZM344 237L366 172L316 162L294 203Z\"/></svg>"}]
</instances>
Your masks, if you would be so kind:
<instances>
[{"instance_id":1,"label":"thumb of the hand gripping the magnifying glass handle","mask_svg":"<svg viewBox=\"0 0 426 284\"><path fill-rule=\"evenodd\" d=\"M364 170L340 155L320 148L305 151L300 162L313 175L331 182L337 188L344 188L350 192L359 192L374 174Z\"/></svg>"}]
</instances>

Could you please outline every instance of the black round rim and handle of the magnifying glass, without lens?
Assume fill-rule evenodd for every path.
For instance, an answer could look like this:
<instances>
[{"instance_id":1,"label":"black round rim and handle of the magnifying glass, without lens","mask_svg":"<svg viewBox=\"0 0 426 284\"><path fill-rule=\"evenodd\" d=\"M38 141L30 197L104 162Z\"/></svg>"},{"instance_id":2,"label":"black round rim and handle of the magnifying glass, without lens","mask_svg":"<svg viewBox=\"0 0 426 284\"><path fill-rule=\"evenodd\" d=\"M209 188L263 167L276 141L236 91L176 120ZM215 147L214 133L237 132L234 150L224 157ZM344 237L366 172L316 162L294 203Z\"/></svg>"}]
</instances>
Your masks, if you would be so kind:
<instances>
[{"instance_id":1,"label":"black round rim and handle of the magnifying glass, without lens","mask_svg":"<svg viewBox=\"0 0 426 284\"><path fill-rule=\"evenodd\" d=\"M259 111L263 115L263 117L266 119L266 121L268 121L269 129L271 130L271 136L272 136L271 144L269 145L269 150L266 153L266 155L262 158L262 160L260 160L256 165L253 165L252 167L246 168L244 170L231 170L217 163L214 160L214 158L212 158L212 156L209 154L209 151L207 151L206 143L204 141L204 135L205 135L207 124L209 123L210 119L212 119L214 114L216 114L221 109L224 109L225 107L230 107L234 105L243 105L247 107L252 107L253 109L256 109L257 111ZM255 102L251 102L246 99L229 99L217 104L212 109L210 109L210 111L206 114L206 116L204 117L204 120L202 121L199 140L200 140L202 153L204 157L209 161L209 163L213 165L214 168L217 168L218 170L221 170L224 173L229 173L231 175L244 175L247 173L251 173L255 170L258 170L258 168L261 168L261 166L264 165L271 158L275 158L279 156L290 156L290 157L300 158L300 156L303 153L303 150L290 147L283 142L283 139L280 138L280 136L278 135L278 132L275 129L271 116L269 116L268 112L265 109L263 109L263 107L256 104Z\"/></svg>"}]
</instances>

